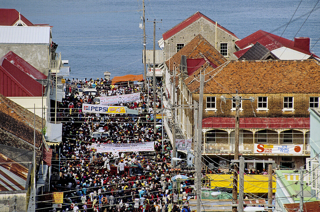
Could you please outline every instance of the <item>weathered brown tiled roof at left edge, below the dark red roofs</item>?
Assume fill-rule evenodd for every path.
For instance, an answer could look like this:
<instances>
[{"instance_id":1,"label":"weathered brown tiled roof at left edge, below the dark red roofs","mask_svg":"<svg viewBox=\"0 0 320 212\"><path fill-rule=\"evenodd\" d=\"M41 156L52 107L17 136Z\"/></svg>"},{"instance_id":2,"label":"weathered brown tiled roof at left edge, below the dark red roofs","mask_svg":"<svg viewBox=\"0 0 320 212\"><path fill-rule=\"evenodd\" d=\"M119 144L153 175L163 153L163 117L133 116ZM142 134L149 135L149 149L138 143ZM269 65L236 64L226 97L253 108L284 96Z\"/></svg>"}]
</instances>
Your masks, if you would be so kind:
<instances>
[{"instance_id":1,"label":"weathered brown tiled roof at left edge, below the dark red roofs","mask_svg":"<svg viewBox=\"0 0 320 212\"><path fill-rule=\"evenodd\" d=\"M45 120L43 120L45 125ZM21 107L10 99L0 94L0 143L8 146L20 147L26 150L32 150L33 133L34 133L34 113ZM36 116L36 147L40 147L42 142L42 119ZM19 143L11 143L8 139L17 137L15 141ZM30 145L31 144L31 145ZM30 149L31 148L31 149Z\"/></svg>"}]
</instances>

